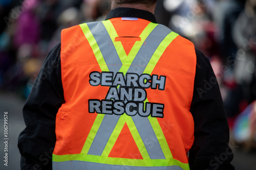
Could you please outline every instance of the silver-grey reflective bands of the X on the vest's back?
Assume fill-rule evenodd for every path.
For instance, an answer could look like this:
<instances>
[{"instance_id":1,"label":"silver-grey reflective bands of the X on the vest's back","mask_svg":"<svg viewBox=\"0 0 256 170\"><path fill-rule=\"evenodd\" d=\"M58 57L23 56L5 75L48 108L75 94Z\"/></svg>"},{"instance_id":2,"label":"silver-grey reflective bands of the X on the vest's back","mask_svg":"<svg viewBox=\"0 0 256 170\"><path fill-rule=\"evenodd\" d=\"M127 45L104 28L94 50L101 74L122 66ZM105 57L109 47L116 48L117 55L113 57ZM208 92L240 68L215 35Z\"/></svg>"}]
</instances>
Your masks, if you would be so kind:
<instances>
[{"instance_id":1,"label":"silver-grey reflective bands of the X on the vest's back","mask_svg":"<svg viewBox=\"0 0 256 170\"><path fill-rule=\"evenodd\" d=\"M114 45L109 44L109 40L112 42L108 31L106 31L102 22L92 22L88 24L94 38L96 39L102 56L108 65L110 71L114 74L118 72L121 68L119 62L119 56L115 50ZM137 53L132 65L127 72L135 72L139 75L143 74L143 71L151 60L153 54L157 50L159 44L171 31L162 26L158 25L150 35L145 40L145 45L142 45L139 52ZM108 40L108 42L106 42ZM117 59L118 58L118 59ZM88 154L100 156L105 148L106 143L113 133L113 130L119 120L119 115L104 115L102 123L98 129L97 134L92 142L91 148ZM148 120L148 118L140 117L139 115L133 116L133 121L135 126L141 136L141 139L146 147L148 155L151 159L165 159L165 156L160 147L159 141L157 140L156 134ZM154 145L152 142L147 142L148 140L154 140Z\"/></svg>"}]
</instances>

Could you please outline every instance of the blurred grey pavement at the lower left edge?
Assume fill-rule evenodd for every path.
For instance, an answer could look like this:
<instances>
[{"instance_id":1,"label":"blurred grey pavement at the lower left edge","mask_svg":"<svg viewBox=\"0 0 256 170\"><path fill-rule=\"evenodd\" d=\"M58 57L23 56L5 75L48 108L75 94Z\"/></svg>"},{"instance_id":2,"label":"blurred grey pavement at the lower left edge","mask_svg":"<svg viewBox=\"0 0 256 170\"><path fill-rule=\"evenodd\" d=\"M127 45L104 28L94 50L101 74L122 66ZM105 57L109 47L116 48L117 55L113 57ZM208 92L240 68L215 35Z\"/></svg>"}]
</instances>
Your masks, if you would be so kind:
<instances>
[{"instance_id":1,"label":"blurred grey pavement at the lower left edge","mask_svg":"<svg viewBox=\"0 0 256 170\"><path fill-rule=\"evenodd\" d=\"M18 170L19 151L17 141L19 133L25 128L22 108L25 101L17 98L14 94L0 93L0 169ZM4 112L8 112L8 166L4 165Z\"/></svg>"}]
</instances>

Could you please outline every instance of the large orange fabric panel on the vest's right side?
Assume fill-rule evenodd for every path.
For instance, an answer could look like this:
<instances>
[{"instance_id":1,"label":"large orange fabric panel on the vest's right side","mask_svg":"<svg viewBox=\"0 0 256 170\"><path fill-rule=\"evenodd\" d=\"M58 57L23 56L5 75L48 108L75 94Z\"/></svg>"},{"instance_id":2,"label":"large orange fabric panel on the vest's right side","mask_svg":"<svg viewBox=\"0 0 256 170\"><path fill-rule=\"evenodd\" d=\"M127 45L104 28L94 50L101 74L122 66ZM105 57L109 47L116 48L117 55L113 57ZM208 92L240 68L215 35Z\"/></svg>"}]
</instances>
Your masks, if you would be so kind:
<instances>
[{"instance_id":1,"label":"large orange fabric panel on the vest's right side","mask_svg":"<svg viewBox=\"0 0 256 170\"><path fill-rule=\"evenodd\" d=\"M195 65L194 45L178 36L165 50L152 72L158 75L167 73L165 90L155 95L154 90L147 89L148 101L165 103L164 117L158 118L158 122L174 159L183 163L188 163L184 155L194 142L194 121L189 109L193 96Z\"/></svg>"}]
</instances>

